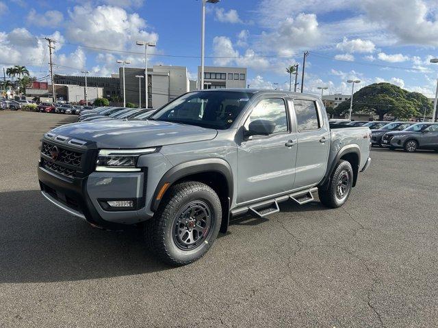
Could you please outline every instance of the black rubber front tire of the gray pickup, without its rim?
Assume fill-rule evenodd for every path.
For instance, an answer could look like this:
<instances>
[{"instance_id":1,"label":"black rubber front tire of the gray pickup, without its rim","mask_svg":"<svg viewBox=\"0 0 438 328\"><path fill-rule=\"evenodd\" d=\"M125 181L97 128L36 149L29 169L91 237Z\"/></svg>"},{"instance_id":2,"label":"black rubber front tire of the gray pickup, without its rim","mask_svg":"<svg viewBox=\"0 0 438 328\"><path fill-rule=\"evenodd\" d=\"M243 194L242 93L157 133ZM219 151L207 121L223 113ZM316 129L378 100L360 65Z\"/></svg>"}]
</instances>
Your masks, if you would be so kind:
<instances>
[{"instance_id":1,"label":"black rubber front tire of the gray pickup, without its rim","mask_svg":"<svg viewBox=\"0 0 438 328\"><path fill-rule=\"evenodd\" d=\"M206 204L211 213L211 226L205 240L194 249L181 249L175 240L175 220L193 202ZM170 187L154 217L144 224L146 245L162 262L172 266L190 264L201 258L218 236L222 208L216 192L202 182L186 181Z\"/></svg>"}]
</instances>

